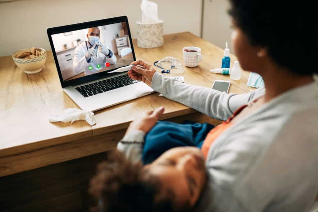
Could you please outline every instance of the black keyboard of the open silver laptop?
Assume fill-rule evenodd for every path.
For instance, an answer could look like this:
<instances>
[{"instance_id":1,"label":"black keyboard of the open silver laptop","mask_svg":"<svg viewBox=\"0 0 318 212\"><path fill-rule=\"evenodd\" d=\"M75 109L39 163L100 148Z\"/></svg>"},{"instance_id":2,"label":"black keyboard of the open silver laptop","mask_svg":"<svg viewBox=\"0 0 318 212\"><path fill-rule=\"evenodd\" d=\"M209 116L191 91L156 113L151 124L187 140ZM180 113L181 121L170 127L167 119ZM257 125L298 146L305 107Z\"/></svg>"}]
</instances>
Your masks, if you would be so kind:
<instances>
[{"instance_id":1,"label":"black keyboard of the open silver laptop","mask_svg":"<svg viewBox=\"0 0 318 212\"><path fill-rule=\"evenodd\" d=\"M84 97L89 97L89 96L97 95L99 93L111 91L116 88L131 85L137 82L139 81L130 79L127 74L124 74L118 77L101 80L99 82L94 82L88 85L79 86L79 87L76 87L75 89L78 92L80 92L80 94L82 94Z\"/></svg>"}]
</instances>

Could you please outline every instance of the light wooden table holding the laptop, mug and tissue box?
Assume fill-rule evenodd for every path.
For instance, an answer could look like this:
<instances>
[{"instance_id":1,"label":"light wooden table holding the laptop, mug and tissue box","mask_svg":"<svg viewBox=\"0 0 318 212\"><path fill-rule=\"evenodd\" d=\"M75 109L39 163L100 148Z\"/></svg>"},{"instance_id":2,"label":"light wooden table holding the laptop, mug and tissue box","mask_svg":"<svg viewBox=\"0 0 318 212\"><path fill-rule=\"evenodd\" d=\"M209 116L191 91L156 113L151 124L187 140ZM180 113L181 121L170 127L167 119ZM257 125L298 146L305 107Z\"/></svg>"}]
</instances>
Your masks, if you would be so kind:
<instances>
[{"instance_id":1,"label":"light wooden table holding the laptop, mug and tissue box","mask_svg":"<svg viewBox=\"0 0 318 212\"><path fill-rule=\"evenodd\" d=\"M183 76L186 83L211 87L216 79L230 80L229 92L247 92L248 72L243 71L239 81L209 72L221 66L223 49L189 32L165 35L164 42L160 48L142 49L134 40L136 58L149 63L167 56L183 58L183 47L199 46L203 60L198 67L185 67ZM231 66L235 59L231 55ZM85 121L50 123L50 115L62 113L66 108L78 108L61 88L51 51L48 51L42 72L34 75L25 74L13 63L11 56L1 57L0 79L0 176L114 149L138 114L160 106L165 107L162 118L165 120L219 123L194 109L159 96L159 93L96 112L97 124L93 127Z\"/></svg>"}]
</instances>

